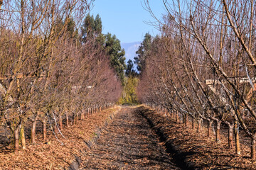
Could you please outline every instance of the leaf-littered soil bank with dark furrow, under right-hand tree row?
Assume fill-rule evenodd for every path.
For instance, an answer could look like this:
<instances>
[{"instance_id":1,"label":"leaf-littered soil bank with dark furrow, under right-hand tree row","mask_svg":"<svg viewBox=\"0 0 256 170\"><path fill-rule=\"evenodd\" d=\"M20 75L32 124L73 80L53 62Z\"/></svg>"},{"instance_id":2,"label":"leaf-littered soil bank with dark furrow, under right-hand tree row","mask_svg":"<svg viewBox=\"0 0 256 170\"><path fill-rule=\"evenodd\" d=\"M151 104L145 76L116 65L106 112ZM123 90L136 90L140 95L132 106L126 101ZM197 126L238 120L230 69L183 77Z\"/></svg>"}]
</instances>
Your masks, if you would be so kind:
<instances>
[{"instance_id":1,"label":"leaf-littered soil bank with dark furrow, under right-hand tree row","mask_svg":"<svg viewBox=\"0 0 256 170\"><path fill-rule=\"evenodd\" d=\"M235 148L228 149L228 140L221 136L220 142L215 137L207 137L205 128L201 132L176 123L169 117L156 113L144 106L137 108L164 140L166 149L178 162L183 162L186 169L256 169L250 159L250 147L241 144L241 157L235 155Z\"/></svg>"}]
</instances>

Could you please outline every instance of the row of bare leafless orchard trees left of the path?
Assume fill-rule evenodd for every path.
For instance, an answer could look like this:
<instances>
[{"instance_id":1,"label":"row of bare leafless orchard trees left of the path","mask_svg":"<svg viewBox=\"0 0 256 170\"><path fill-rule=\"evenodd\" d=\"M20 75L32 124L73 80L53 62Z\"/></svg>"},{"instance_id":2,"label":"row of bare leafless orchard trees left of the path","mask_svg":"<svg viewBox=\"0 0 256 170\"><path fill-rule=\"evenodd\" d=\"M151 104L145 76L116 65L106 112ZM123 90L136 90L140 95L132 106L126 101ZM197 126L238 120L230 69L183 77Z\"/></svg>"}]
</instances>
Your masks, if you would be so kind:
<instances>
[{"instance_id":1,"label":"row of bare leafless orchard trees left of the path","mask_svg":"<svg viewBox=\"0 0 256 170\"><path fill-rule=\"evenodd\" d=\"M0 1L0 125L26 148L36 123L60 132L78 117L112 106L122 85L97 40L80 33L93 1ZM101 29L101 28L100 28ZM88 33L88 32L87 32ZM70 120L71 119L71 120Z\"/></svg>"}]
</instances>

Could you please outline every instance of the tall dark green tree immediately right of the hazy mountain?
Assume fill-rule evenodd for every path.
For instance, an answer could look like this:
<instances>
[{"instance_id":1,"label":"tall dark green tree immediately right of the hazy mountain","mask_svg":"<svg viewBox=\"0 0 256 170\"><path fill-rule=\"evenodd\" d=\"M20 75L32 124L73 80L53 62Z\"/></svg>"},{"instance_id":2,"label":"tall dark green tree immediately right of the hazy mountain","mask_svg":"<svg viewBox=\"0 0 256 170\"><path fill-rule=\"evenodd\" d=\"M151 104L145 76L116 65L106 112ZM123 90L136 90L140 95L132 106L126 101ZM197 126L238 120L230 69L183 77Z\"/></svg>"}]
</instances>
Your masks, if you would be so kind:
<instances>
[{"instance_id":1,"label":"tall dark green tree immediately right of the hazy mountain","mask_svg":"<svg viewBox=\"0 0 256 170\"><path fill-rule=\"evenodd\" d=\"M137 69L139 73L143 72L146 65L146 57L148 56L147 53L151 48L152 39L152 36L149 33L146 33L142 44L139 45L139 49L136 52L137 57L134 57L134 63L137 64Z\"/></svg>"}]
</instances>

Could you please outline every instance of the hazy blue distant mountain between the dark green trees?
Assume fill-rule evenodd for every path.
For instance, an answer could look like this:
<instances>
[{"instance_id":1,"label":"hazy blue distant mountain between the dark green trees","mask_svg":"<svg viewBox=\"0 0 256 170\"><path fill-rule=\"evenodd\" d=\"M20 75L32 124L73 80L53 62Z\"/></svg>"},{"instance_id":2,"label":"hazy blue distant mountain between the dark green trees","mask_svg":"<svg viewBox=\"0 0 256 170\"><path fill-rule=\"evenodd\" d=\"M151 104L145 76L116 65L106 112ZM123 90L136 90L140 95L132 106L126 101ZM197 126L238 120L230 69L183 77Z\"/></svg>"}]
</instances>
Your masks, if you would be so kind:
<instances>
[{"instance_id":1,"label":"hazy blue distant mountain between the dark green trees","mask_svg":"<svg viewBox=\"0 0 256 170\"><path fill-rule=\"evenodd\" d=\"M139 48L139 45L141 42L129 42L129 43L121 43L121 47L125 50L125 62L127 63L128 60L134 60L134 57L136 57L136 51Z\"/></svg>"}]
</instances>

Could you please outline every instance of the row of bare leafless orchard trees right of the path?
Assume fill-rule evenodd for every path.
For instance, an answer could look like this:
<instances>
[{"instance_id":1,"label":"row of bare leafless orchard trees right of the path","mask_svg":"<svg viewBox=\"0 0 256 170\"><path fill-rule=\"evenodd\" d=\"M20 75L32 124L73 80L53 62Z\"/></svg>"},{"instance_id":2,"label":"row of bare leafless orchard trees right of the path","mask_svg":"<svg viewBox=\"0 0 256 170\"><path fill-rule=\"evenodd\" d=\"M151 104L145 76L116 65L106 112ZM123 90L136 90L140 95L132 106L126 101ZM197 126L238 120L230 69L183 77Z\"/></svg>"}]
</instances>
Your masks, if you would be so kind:
<instances>
[{"instance_id":1,"label":"row of bare leafless orchard trees right of the path","mask_svg":"<svg viewBox=\"0 0 256 170\"><path fill-rule=\"evenodd\" d=\"M242 129L255 160L256 2L163 4L167 14L158 20L161 36L146 35L143 55L137 57L139 100L182 118L185 125L190 118L198 130L207 122L208 136L214 125L217 142L220 127L228 127L228 146L233 148L235 138L238 155Z\"/></svg>"}]
</instances>

